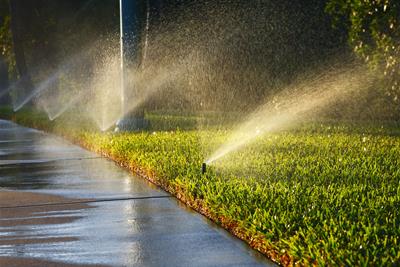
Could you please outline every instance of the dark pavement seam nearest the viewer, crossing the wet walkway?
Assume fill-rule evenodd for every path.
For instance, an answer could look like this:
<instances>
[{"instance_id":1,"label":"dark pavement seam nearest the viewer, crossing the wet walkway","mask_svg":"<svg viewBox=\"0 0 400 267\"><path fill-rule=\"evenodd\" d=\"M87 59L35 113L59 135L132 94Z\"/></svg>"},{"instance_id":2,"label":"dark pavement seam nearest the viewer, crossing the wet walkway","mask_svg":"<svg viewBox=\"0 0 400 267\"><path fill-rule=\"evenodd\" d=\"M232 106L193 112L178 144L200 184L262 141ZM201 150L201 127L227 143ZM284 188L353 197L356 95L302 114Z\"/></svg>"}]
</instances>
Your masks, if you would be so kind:
<instances>
[{"instance_id":1,"label":"dark pavement seam nearest the viewer, crossing the wet walkway","mask_svg":"<svg viewBox=\"0 0 400 267\"><path fill-rule=\"evenodd\" d=\"M62 205L74 205L74 204L89 204L98 202L114 202L114 201L127 201L127 200L145 200L145 199L161 199L161 198L173 198L173 196L144 196L144 197L126 197L126 198L103 198L83 201L70 201L70 202L56 202L56 203L39 203L31 205L17 205L17 206L4 206L0 209L18 209L18 208L32 208L32 207L46 207L46 206L62 206Z\"/></svg>"}]
</instances>

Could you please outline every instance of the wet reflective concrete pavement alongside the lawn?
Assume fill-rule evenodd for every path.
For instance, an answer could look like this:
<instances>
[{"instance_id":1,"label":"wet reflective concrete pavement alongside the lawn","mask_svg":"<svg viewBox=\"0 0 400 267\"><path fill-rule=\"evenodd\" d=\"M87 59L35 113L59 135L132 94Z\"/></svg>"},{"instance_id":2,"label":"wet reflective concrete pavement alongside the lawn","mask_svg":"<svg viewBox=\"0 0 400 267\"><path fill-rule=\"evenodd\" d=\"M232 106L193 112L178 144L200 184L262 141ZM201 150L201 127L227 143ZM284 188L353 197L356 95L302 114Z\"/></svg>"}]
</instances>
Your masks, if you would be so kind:
<instances>
[{"instance_id":1,"label":"wet reflective concrete pavement alongside the lawn","mask_svg":"<svg viewBox=\"0 0 400 267\"><path fill-rule=\"evenodd\" d=\"M58 137L0 120L2 262L273 265L112 161Z\"/></svg>"}]
</instances>

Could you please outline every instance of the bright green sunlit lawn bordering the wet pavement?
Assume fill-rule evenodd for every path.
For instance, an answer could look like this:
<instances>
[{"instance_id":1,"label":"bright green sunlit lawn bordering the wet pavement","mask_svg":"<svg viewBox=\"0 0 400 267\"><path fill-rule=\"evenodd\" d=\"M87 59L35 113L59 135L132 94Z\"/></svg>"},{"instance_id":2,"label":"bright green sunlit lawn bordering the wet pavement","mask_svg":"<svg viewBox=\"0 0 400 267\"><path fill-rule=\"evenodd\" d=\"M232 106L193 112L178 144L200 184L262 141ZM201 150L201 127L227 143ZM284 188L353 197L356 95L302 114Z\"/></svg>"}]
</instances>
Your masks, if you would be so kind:
<instances>
[{"instance_id":1,"label":"bright green sunlit lawn bordering the wet pavement","mask_svg":"<svg viewBox=\"0 0 400 267\"><path fill-rule=\"evenodd\" d=\"M229 131L149 118L150 131L114 134L14 117L113 158L284 265L400 264L398 124L306 124L260 138L201 174ZM169 120L186 130L161 131Z\"/></svg>"}]
</instances>

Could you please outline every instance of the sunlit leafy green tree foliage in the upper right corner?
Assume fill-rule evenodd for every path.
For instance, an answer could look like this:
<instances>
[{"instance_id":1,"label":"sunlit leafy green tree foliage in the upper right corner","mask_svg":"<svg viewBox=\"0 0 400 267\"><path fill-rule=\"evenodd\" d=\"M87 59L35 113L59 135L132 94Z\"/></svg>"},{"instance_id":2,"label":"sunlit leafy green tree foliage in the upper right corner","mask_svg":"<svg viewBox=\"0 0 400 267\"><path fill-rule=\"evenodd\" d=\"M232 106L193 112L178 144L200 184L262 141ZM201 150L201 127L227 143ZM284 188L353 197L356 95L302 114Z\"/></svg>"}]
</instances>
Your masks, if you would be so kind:
<instances>
[{"instance_id":1,"label":"sunlit leafy green tree foliage in the upper right corner","mask_svg":"<svg viewBox=\"0 0 400 267\"><path fill-rule=\"evenodd\" d=\"M329 0L326 11L336 27L348 30L354 52L382 70L387 93L400 100L400 1Z\"/></svg>"}]
</instances>

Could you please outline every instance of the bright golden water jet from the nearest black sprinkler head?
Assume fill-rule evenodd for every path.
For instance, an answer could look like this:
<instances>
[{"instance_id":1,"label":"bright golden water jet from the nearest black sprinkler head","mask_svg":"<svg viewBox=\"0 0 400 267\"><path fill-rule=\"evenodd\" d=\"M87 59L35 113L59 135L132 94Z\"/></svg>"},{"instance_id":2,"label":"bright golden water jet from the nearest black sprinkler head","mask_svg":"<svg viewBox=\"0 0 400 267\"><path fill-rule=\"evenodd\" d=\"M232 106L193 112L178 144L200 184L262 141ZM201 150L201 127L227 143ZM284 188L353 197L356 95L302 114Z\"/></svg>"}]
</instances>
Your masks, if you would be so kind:
<instances>
[{"instance_id":1,"label":"bright golden water jet from the nearest black sprinkler head","mask_svg":"<svg viewBox=\"0 0 400 267\"><path fill-rule=\"evenodd\" d=\"M306 118L318 116L338 99L360 92L372 79L373 75L365 68L355 67L326 71L297 82L248 116L233 131L228 141L209 156L206 163L212 164L240 150L257 137L293 127Z\"/></svg>"}]
</instances>

